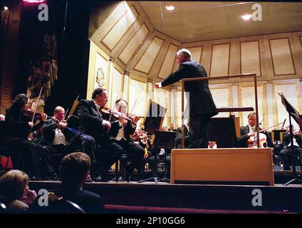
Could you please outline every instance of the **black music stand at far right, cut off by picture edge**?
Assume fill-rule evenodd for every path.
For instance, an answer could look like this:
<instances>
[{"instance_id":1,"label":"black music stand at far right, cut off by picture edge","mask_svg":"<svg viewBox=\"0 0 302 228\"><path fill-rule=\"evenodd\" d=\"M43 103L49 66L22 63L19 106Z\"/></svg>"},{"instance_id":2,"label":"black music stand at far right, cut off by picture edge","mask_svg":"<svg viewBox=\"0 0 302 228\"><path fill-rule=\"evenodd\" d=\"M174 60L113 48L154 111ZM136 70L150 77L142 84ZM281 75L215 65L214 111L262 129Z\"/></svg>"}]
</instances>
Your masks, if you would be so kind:
<instances>
[{"instance_id":1,"label":"black music stand at far right, cut off by picture edge","mask_svg":"<svg viewBox=\"0 0 302 228\"><path fill-rule=\"evenodd\" d=\"M286 186L286 185L291 184L291 182L294 182L295 180L302 182L302 180L298 179L298 176L296 174L296 161L295 161L294 155L293 155L293 128L291 125L291 118L293 118L294 120L296 120L296 123L298 123L300 129L302 130L302 117L298 113L298 111L295 108L293 108L293 105L291 105L291 103L288 102L286 97L283 95L282 91L279 91L278 94L281 96L281 102L284 105L284 107L286 108L286 111L288 112L289 133L291 135L291 167L293 167L293 179L286 182L285 184L283 184L284 186Z\"/></svg>"}]
</instances>

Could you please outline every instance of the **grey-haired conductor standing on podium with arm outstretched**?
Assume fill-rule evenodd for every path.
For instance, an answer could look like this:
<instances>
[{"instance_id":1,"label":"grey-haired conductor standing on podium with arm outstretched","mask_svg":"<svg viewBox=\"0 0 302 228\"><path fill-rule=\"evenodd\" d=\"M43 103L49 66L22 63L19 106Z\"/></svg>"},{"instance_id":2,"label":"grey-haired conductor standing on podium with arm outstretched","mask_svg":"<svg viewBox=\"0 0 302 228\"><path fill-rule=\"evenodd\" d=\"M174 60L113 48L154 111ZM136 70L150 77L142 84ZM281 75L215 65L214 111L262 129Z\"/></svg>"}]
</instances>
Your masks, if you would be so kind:
<instances>
[{"instance_id":1,"label":"grey-haired conductor standing on podium with arm outstretched","mask_svg":"<svg viewBox=\"0 0 302 228\"><path fill-rule=\"evenodd\" d=\"M161 83L155 83L155 88L169 86L182 78L207 77L204 67L192 59L192 54L187 49L177 51L177 63L177 71ZM209 90L209 82L189 81L184 83L184 90L189 103L189 128L192 135L189 148L207 148L207 125L209 119L218 114Z\"/></svg>"}]
</instances>

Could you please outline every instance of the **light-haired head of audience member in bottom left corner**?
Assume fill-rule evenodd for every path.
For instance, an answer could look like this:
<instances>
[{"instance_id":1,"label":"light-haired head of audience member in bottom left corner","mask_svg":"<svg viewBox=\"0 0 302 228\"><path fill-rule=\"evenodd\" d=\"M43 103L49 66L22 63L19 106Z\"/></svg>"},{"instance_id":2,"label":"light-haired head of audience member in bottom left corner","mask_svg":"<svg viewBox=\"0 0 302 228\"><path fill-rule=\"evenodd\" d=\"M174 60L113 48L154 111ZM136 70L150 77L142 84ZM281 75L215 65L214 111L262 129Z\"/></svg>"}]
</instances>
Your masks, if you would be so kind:
<instances>
[{"instance_id":1,"label":"light-haired head of audience member in bottom left corner","mask_svg":"<svg viewBox=\"0 0 302 228\"><path fill-rule=\"evenodd\" d=\"M0 195L21 199L28 192L28 175L20 170L10 170L0 177Z\"/></svg>"}]
</instances>

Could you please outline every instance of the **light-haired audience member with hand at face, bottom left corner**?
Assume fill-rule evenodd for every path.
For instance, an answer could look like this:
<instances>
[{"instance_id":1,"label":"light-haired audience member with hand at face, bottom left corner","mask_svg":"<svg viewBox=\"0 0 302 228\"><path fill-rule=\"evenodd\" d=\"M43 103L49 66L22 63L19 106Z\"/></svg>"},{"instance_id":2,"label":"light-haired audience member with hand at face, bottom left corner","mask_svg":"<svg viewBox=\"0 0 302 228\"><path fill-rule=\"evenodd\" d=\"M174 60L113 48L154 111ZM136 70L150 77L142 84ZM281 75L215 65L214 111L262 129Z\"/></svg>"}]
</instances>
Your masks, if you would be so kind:
<instances>
[{"instance_id":1,"label":"light-haired audience member with hand at face, bottom left corner","mask_svg":"<svg viewBox=\"0 0 302 228\"><path fill-rule=\"evenodd\" d=\"M0 177L0 201L10 213L26 212L37 197L34 190L29 190L28 175L20 170L11 170Z\"/></svg>"}]
</instances>

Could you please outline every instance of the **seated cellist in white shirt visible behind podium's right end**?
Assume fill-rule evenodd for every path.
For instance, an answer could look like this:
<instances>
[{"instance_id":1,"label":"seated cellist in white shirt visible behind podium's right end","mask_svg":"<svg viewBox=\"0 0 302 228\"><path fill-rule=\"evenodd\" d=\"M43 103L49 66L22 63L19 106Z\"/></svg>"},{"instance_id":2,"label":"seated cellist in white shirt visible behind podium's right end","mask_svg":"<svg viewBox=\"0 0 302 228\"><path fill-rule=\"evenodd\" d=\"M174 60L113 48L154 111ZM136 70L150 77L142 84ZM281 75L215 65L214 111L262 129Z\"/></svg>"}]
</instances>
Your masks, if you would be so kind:
<instances>
[{"instance_id":1,"label":"seated cellist in white shirt visible behind podium's right end","mask_svg":"<svg viewBox=\"0 0 302 228\"><path fill-rule=\"evenodd\" d=\"M240 137L238 138L239 147L251 147L251 145L256 144L256 141L251 140L256 138L256 113L251 112L247 116L249 124L240 127ZM259 127L259 131L263 130ZM269 134L266 131L262 131L266 136L266 145L264 147L274 147L274 143L271 141Z\"/></svg>"}]
</instances>

